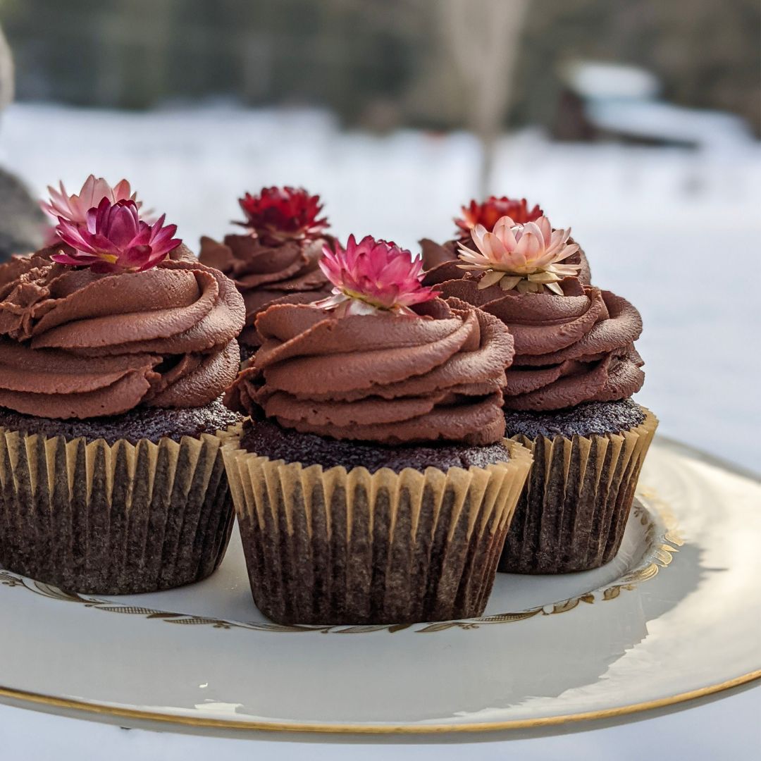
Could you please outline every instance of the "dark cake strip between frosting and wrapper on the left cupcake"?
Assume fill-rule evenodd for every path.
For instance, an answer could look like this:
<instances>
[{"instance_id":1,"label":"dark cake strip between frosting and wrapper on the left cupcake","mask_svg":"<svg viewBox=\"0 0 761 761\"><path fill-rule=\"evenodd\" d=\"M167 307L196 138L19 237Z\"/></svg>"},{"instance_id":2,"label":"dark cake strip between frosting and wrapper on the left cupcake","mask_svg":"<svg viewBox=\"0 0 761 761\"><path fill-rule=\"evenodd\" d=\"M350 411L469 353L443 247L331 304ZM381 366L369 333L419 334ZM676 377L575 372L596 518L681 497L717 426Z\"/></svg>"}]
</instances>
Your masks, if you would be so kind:
<instances>
[{"instance_id":1,"label":"dark cake strip between frosting and wrapper on the left cupcake","mask_svg":"<svg viewBox=\"0 0 761 761\"><path fill-rule=\"evenodd\" d=\"M0 427L25 434L43 434L47 437L64 436L68 440L83 436L88 441L103 438L108 444L126 439L137 444L142 438L157 444L162 437L180 441L183 436L198 437L202 433L215 433L240 420L217 399L203 407L162 409L139 407L107 418L87 420L57 420L22 415L12 409L0 407Z\"/></svg>"}]
</instances>

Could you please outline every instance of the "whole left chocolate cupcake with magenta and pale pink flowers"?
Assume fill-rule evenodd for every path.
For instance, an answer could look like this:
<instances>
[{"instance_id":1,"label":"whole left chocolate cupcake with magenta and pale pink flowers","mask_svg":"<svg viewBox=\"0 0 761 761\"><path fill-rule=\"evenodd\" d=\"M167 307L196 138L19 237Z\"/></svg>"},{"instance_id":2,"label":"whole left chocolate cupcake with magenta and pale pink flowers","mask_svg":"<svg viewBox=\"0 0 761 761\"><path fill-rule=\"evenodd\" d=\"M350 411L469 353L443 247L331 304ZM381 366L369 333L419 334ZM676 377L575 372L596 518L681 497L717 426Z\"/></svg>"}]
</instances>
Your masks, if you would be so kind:
<instances>
[{"instance_id":1,"label":"whole left chocolate cupcake with magenta and pale pink flowers","mask_svg":"<svg viewBox=\"0 0 761 761\"><path fill-rule=\"evenodd\" d=\"M219 397L244 305L174 225L142 221L129 186L104 184L54 198L60 244L0 267L0 565L135 594L224 556L237 417Z\"/></svg>"}]
</instances>

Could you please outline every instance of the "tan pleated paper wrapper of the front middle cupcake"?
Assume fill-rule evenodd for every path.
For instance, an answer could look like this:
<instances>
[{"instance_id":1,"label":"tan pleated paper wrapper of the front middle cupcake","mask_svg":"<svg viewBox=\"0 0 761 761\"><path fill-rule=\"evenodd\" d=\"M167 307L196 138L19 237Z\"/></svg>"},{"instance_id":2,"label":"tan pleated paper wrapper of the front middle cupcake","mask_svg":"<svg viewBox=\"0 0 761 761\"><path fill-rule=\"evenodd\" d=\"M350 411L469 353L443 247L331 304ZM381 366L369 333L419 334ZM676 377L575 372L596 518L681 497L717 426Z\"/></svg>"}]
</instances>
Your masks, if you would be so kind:
<instances>
[{"instance_id":1,"label":"tan pleated paper wrapper of the front middle cupcake","mask_svg":"<svg viewBox=\"0 0 761 761\"><path fill-rule=\"evenodd\" d=\"M529 452L425 473L320 465L222 447L256 606L279 623L479 616Z\"/></svg>"}]
</instances>

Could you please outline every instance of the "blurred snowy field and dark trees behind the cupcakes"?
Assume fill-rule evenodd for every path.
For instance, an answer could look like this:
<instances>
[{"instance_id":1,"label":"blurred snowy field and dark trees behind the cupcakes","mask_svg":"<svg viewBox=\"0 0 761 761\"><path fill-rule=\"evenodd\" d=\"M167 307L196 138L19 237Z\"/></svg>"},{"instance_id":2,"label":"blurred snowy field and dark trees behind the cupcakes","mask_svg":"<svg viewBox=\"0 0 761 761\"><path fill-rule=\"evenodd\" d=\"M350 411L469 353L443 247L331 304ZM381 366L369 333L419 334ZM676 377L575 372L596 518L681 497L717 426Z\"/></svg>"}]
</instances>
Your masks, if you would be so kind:
<instances>
[{"instance_id":1,"label":"blurred snowy field and dark trees behind the cupcakes","mask_svg":"<svg viewBox=\"0 0 761 761\"><path fill-rule=\"evenodd\" d=\"M413 252L471 198L525 196L642 311L661 431L761 470L758 0L0 0L0 22L5 253L43 231L15 178L127 177L195 249L263 185Z\"/></svg>"}]
</instances>

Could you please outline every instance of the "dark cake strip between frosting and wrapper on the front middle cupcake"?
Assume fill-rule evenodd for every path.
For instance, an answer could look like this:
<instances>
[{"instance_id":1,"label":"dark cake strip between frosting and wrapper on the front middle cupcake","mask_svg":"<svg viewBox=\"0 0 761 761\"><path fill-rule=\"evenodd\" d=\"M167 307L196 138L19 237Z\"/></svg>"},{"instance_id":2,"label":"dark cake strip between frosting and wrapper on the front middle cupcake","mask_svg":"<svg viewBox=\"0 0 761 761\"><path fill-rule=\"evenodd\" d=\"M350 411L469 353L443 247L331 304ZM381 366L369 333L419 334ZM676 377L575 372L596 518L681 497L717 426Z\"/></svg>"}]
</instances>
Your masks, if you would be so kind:
<instances>
[{"instance_id":1,"label":"dark cake strip between frosting and wrapper on the front middle cupcake","mask_svg":"<svg viewBox=\"0 0 761 761\"><path fill-rule=\"evenodd\" d=\"M510 459L510 452L504 444L484 447L446 443L384 446L368 441L339 441L299 433L269 420L245 421L240 446L270 460L301 463L304 467L321 465L325 469L343 466L346 470L352 470L361 466L370 473L381 468L390 468L394 473L401 473L405 468L422 472L427 467L444 472L451 467L467 470L471 466L485 468Z\"/></svg>"}]
</instances>

